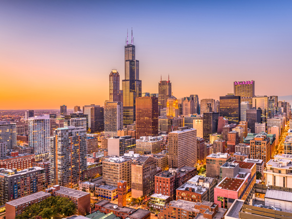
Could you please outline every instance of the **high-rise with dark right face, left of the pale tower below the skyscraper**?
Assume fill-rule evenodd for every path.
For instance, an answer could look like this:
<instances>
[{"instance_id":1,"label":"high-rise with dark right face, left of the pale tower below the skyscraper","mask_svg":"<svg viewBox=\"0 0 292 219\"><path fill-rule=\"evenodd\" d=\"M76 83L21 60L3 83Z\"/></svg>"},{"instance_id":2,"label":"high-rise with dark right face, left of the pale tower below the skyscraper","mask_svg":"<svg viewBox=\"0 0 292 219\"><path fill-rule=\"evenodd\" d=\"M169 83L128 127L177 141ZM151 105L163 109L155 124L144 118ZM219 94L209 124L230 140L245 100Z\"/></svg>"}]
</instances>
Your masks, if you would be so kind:
<instances>
[{"instance_id":1,"label":"high-rise with dark right face, left of the pale tower below the skyscraper","mask_svg":"<svg viewBox=\"0 0 292 219\"><path fill-rule=\"evenodd\" d=\"M99 105L87 105L83 107L83 113L88 115L88 127L91 132L104 130L104 109Z\"/></svg>"}]
</instances>

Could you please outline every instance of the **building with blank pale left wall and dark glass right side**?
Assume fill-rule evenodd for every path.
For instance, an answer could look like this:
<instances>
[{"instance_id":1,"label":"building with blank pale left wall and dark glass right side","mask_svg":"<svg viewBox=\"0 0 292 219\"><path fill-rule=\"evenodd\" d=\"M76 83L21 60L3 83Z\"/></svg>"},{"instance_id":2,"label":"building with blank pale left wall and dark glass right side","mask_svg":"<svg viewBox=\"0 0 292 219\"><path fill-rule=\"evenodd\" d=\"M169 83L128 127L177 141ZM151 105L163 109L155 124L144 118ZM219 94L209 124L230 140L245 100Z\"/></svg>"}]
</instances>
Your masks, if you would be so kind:
<instances>
[{"instance_id":1,"label":"building with blank pale left wall and dark glass right side","mask_svg":"<svg viewBox=\"0 0 292 219\"><path fill-rule=\"evenodd\" d=\"M109 156L123 156L129 151L136 150L136 139L132 136L114 136L108 139Z\"/></svg>"}]
</instances>

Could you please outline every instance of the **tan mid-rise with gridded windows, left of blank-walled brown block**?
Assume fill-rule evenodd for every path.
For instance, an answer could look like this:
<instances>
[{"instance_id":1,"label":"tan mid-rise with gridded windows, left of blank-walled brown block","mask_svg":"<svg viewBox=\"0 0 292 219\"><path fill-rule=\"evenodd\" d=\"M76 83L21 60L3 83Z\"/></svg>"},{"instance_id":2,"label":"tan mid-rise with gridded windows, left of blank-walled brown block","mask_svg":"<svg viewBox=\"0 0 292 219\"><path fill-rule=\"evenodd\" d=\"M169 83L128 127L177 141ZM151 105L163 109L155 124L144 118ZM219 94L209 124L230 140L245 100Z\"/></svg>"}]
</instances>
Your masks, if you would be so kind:
<instances>
[{"instance_id":1,"label":"tan mid-rise with gridded windows, left of blank-walled brown block","mask_svg":"<svg viewBox=\"0 0 292 219\"><path fill-rule=\"evenodd\" d=\"M104 157L102 159L103 181L112 186L118 186L119 181L127 181L127 191L132 186L132 159L126 157Z\"/></svg>"}]
</instances>

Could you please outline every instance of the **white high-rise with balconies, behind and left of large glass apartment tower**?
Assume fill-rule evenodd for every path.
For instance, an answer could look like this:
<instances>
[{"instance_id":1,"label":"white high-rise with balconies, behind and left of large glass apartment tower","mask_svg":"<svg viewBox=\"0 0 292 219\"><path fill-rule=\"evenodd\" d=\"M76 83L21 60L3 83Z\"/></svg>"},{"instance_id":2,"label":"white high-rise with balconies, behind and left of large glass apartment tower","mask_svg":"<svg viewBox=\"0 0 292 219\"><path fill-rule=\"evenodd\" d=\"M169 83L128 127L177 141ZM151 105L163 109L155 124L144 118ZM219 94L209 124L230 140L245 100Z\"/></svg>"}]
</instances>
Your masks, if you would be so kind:
<instances>
[{"instance_id":1,"label":"white high-rise with balconies, behind and left of large glass apartment tower","mask_svg":"<svg viewBox=\"0 0 292 219\"><path fill-rule=\"evenodd\" d=\"M36 161L48 159L50 152L50 115L28 119L29 146L35 150Z\"/></svg>"}]
</instances>

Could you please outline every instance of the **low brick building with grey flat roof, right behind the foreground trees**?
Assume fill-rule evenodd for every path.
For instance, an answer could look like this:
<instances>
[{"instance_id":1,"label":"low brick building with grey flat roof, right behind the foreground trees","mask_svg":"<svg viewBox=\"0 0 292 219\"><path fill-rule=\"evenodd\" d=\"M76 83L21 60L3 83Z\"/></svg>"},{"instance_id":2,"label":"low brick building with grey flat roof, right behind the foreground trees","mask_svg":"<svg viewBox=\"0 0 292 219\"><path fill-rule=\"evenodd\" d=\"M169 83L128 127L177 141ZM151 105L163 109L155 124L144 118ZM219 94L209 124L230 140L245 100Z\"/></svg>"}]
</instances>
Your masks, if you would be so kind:
<instances>
[{"instance_id":1,"label":"low brick building with grey flat roof, right behind the foreground trees","mask_svg":"<svg viewBox=\"0 0 292 219\"><path fill-rule=\"evenodd\" d=\"M90 212L90 193L59 185L46 189L46 192L51 193L52 196L69 198L76 205L79 214Z\"/></svg>"}]
</instances>

